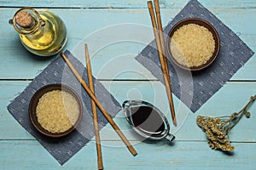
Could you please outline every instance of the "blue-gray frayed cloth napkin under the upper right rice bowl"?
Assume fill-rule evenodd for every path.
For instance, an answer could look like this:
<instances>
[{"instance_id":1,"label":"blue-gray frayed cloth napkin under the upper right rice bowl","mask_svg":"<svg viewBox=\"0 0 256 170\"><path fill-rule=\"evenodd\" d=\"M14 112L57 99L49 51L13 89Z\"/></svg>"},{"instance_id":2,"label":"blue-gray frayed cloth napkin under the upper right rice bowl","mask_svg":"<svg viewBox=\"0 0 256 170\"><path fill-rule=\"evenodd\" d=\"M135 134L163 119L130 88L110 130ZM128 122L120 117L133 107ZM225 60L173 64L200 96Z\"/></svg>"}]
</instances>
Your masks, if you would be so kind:
<instances>
[{"instance_id":1,"label":"blue-gray frayed cloth napkin under the upper right rice bowl","mask_svg":"<svg viewBox=\"0 0 256 170\"><path fill-rule=\"evenodd\" d=\"M191 73L189 71L183 71L177 68L176 65L172 65L170 60L168 61L172 80L172 93L181 99L191 111L195 112L201 105L204 105L218 89L222 88L224 83L227 82L254 53L233 31L196 0L191 0L187 3L180 13L166 26L164 33L167 35L172 29L172 26L185 18L201 18L207 20L218 31L221 42L218 58L210 67L201 72ZM137 55L136 59L151 71L154 77L164 83L154 41L150 42L150 44Z\"/></svg>"}]
</instances>

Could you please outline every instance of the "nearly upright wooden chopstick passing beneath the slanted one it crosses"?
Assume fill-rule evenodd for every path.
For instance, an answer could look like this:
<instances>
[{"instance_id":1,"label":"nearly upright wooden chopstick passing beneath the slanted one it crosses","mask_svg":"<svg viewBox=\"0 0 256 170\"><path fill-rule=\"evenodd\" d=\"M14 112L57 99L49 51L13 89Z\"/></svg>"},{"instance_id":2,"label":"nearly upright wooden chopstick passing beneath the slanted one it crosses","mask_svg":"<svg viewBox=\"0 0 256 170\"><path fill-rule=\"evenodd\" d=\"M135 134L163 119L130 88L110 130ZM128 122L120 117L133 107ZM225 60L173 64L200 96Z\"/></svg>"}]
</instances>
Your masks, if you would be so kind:
<instances>
[{"instance_id":1,"label":"nearly upright wooden chopstick passing beneath the slanted one it crosses","mask_svg":"<svg viewBox=\"0 0 256 170\"><path fill-rule=\"evenodd\" d=\"M89 88L91 92L94 94L94 85L92 81L92 73L91 73L91 66L90 66L90 56L89 56L88 46L86 43L84 45L84 49L85 49L85 61L86 61L86 67L87 67ZM98 169L102 170L104 167L103 167L103 161L102 161L102 145L101 145L101 139L100 139L100 133L99 133L96 104L93 101L93 99L90 99L90 103L91 103L91 110L92 110L93 123L94 123L94 129L95 129Z\"/></svg>"}]
</instances>

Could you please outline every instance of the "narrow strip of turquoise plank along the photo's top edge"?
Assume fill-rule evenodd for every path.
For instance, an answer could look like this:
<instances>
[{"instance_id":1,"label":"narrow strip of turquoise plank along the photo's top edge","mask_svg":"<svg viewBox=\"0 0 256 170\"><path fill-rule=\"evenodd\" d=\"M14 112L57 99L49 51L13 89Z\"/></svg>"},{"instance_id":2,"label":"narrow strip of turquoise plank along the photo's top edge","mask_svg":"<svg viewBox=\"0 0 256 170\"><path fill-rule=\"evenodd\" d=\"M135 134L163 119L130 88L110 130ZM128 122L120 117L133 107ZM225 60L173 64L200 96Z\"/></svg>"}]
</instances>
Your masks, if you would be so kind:
<instances>
[{"instance_id":1,"label":"narrow strip of turquoise plank along the photo's top edge","mask_svg":"<svg viewBox=\"0 0 256 170\"><path fill-rule=\"evenodd\" d=\"M167 1L160 0L160 8L183 8L183 6L188 3L188 0L180 1ZM221 1L203 1L199 0L207 8L255 8L256 3L254 0L229 0ZM3 7L20 7L20 6L32 6L32 7L43 7L43 8L147 8L146 0L94 0L94 1L68 1L68 0L40 0L32 1L28 3L25 0L2 0L0 1L0 6Z\"/></svg>"}]
</instances>

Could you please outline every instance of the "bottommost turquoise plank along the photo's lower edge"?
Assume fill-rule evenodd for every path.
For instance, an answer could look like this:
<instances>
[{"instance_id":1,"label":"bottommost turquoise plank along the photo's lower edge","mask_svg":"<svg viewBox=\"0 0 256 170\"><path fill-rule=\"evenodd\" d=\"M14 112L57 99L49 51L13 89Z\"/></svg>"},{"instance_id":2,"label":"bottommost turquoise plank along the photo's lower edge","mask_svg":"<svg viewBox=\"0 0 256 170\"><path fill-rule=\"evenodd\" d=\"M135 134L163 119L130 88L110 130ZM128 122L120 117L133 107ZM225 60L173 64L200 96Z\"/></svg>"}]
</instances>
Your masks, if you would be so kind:
<instances>
[{"instance_id":1,"label":"bottommost turquoise plank along the photo's lower edge","mask_svg":"<svg viewBox=\"0 0 256 170\"><path fill-rule=\"evenodd\" d=\"M255 143L235 143L229 156L210 149L205 142L140 143L139 155L131 156L122 147L102 146L105 169L253 169L256 166ZM1 169L96 169L95 144L87 144L60 166L37 141L0 141ZM17 154L19 153L19 154ZM111 154L110 154L111 153ZM22 157L22 159L20 159Z\"/></svg>"}]
</instances>

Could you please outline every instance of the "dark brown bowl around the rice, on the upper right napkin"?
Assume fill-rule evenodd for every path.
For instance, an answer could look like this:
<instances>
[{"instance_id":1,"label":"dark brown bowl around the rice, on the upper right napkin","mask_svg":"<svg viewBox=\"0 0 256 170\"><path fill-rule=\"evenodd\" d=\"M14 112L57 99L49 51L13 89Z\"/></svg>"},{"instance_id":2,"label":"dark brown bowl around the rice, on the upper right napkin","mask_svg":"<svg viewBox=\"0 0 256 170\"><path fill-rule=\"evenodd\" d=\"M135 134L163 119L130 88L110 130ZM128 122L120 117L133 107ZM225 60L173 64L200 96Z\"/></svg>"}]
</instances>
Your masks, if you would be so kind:
<instances>
[{"instance_id":1,"label":"dark brown bowl around the rice, on the upper right napkin","mask_svg":"<svg viewBox=\"0 0 256 170\"><path fill-rule=\"evenodd\" d=\"M208 29L208 31L212 32L212 37L213 37L214 42L215 42L215 48L214 48L212 57L210 59L208 59L207 62L203 65L194 66L194 67L188 67L188 66L185 66L185 65L181 65L180 63L177 62L177 60L172 55L172 50L170 48L170 43L171 43L171 38L172 38L173 33L175 31L177 31L177 29L180 28L181 26L188 25L188 24L196 24L196 25L199 25L199 26L204 26ZM167 48L167 51L168 51L168 54L169 54L170 58L172 59L173 63L175 63L177 66L179 66L180 68L183 68L184 70L187 70L187 71L201 71L201 70L207 68L209 65L211 65L212 62L217 58L218 51L219 51L219 48L220 48L220 41L219 41L219 37L218 37L218 32L206 20L201 20L201 19L198 19L198 18L189 18L189 19L185 19L185 20L181 20L181 21L177 22L177 24L172 27L172 29L171 29L171 31L169 31L168 37L166 39L166 46L167 46L166 48Z\"/></svg>"}]
</instances>

